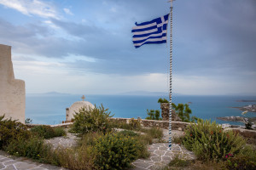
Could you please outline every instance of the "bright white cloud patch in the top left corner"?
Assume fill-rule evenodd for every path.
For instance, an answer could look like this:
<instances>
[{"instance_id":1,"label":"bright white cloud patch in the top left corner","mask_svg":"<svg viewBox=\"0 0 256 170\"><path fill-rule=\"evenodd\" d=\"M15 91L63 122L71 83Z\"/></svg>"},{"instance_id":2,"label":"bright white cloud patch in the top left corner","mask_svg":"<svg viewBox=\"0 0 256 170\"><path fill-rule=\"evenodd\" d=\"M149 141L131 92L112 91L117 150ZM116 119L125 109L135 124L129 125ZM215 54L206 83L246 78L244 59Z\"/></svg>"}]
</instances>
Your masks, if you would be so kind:
<instances>
[{"instance_id":1,"label":"bright white cloud patch in the top left corner","mask_svg":"<svg viewBox=\"0 0 256 170\"><path fill-rule=\"evenodd\" d=\"M0 0L0 4L26 15L37 15L43 18L59 18L52 4L39 0Z\"/></svg>"}]
</instances>

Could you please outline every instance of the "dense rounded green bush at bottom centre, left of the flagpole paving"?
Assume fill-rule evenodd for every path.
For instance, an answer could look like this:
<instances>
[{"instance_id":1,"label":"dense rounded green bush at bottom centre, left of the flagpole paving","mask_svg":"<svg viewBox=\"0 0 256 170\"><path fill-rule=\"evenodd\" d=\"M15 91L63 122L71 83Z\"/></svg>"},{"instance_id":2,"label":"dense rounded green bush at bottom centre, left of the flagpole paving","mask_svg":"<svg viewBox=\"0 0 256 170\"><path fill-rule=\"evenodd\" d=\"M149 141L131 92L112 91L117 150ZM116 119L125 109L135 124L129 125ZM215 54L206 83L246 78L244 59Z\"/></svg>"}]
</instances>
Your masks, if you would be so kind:
<instances>
[{"instance_id":1,"label":"dense rounded green bush at bottom centre, left of the flagpole paving","mask_svg":"<svg viewBox=\"0 0 256 170\"><path fill-rule=\"evenodd\" d=\"M101 169L124 169L136 160L143 144L122 133L108 133L96 139L96 165Z\"/></svg>"}]
</instances>

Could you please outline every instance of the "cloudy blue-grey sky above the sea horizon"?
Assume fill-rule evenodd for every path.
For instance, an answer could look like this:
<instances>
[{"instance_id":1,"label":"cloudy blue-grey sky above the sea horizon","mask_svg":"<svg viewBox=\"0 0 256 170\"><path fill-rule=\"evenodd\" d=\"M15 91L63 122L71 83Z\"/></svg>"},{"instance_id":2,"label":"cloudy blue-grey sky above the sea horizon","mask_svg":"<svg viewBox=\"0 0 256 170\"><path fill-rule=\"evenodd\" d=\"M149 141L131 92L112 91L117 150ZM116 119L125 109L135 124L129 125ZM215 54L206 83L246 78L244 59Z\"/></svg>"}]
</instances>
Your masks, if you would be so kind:
<instances>
[{"instance_id":1,"label":"cloudy blue-grey sky above the sea horizon","mask_svg":"<svg viewBox=\"0 0 256 170\"><path fill-rule=\"evenodd\" d=\"M169 41L134 48L135 22L166 0L0 0L0 43L12 46L26 94L169 91ZM256 95L256 1L173 3L172 93Z\"/></svg>"}]
</instances>

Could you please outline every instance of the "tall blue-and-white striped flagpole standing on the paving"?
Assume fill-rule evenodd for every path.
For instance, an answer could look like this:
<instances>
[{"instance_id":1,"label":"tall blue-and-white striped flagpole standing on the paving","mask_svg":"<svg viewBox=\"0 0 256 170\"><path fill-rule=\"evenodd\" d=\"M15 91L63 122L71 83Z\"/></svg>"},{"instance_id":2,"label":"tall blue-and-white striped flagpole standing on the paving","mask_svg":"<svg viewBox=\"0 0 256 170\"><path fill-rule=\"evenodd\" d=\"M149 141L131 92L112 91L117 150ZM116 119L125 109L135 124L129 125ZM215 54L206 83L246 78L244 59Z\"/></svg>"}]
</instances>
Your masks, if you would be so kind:
<instances>
[{"instance_id":1,"label":"tall blue-and-white striped flagpole standing on the paving","mask_svg":"<svg viewBox=\"0 0 256 170\"><path fill-rule=\"evenodd\" d=\"M169 91L169 150L172 150L172 1L170 11L170 91Z\"/></svg>"}]
</instances>

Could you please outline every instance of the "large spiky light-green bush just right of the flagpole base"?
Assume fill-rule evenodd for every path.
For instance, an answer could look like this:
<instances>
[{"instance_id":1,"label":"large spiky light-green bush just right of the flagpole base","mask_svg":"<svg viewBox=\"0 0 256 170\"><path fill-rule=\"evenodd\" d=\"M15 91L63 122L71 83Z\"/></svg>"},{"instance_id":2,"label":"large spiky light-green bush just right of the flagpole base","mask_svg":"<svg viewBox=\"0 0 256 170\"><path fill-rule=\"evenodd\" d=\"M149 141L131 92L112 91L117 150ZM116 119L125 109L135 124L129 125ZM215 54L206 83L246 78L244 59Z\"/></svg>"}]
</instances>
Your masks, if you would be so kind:
<instances>
[{"instance_id":1,"label":"large spiky light-green bush just right of the flagpole base","mask_svg":"<svg viewBox=\"0 0 256 170\"><path fill-rule=\"evenodd\" d=\"M183 144L188 150L193 150L198 159L208 161L238 154L246 141L232 131L223 132L216 122L200 120L185 130Z\"/></svg>"}]
</instances>

